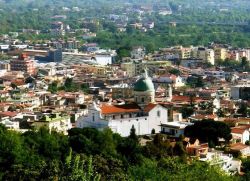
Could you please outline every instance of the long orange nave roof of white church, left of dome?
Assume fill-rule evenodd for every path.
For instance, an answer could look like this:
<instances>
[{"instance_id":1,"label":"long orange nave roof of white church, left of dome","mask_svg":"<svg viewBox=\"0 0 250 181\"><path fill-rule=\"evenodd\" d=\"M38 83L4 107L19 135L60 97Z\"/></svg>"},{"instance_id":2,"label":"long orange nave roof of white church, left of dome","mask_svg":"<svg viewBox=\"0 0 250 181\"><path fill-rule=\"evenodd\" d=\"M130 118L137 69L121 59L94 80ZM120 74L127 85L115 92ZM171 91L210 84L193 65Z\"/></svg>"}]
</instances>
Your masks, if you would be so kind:
<instances>
[{"instance_id":1,"label":"long orange nave roof of white church, left of dome","mask_svg":"<svg viewBox=\"0 0 250 181\"><path fill-rule=\"evenodd\" d=\"M137 104L124 104L124 105L103 104L100 108L102 114L140 112L140 107Z\"/></svg>"}]
</instances>

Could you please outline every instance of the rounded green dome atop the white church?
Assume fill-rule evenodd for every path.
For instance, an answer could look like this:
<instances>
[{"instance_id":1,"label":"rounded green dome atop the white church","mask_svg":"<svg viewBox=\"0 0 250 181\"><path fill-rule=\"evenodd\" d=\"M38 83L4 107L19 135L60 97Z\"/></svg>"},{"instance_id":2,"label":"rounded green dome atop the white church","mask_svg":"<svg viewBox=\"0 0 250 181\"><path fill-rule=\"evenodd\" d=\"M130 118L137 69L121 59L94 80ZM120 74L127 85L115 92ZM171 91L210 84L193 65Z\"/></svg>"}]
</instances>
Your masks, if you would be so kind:
<instances>
[{"instance_id":1,"label":"rounded green dome atop the white church","mask_svg":"<svg viewBox=\"0 0 250 181\"><path fill-rule=\"evenodd\" d=\"M155 91L154 84L150 78L142 77L134 85L134 91L146 92L146 91Z\"/></svg>"}]
</instances>

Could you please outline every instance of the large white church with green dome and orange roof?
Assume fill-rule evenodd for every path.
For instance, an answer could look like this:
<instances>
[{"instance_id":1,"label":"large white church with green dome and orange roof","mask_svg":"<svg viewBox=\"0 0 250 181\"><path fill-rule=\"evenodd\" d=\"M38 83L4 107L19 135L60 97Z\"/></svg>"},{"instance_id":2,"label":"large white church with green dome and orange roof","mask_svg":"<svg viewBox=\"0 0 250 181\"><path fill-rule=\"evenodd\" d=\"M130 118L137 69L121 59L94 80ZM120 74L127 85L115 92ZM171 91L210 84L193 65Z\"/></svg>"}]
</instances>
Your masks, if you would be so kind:
<instances>
[{"instance_id":1,"label":"large white church with green dome and orange roof","mask_svg":"<svg viewBox=\"0 0 250 181\"><path fill-rule=\"evenodd\" d=\"M155 102L155 88L147 71L134 84L134 102L123 104L95 102L89 106L88 114L76 122L79 128L92 127L102 130L110 128L123 137L129 136L134 126L137 135L159 133L160 125L170 121L170 111Z\"/></svg>"}]
</instances>

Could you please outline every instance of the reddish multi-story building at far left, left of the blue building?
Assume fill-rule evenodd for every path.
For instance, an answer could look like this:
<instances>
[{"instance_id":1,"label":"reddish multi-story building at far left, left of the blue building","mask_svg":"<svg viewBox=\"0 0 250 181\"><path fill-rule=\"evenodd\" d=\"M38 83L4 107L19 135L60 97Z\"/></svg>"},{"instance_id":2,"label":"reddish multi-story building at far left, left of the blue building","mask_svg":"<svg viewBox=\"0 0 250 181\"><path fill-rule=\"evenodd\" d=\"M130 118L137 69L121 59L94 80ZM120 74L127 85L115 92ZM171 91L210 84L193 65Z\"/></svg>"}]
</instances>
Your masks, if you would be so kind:
<instances>
[{"instance_id":1,"label":"reddish multi-story building at far left, left of the blue building","mask_svg":"<svg viewBox=\"0 0 250 181\"><path fill-rule=\"evenodd\" d=\"M19 56L19 59L10 61L11 71L22 71L33 75L35 73L34 60L31 60L26 54Z\"/></svg>"}]
</instances>

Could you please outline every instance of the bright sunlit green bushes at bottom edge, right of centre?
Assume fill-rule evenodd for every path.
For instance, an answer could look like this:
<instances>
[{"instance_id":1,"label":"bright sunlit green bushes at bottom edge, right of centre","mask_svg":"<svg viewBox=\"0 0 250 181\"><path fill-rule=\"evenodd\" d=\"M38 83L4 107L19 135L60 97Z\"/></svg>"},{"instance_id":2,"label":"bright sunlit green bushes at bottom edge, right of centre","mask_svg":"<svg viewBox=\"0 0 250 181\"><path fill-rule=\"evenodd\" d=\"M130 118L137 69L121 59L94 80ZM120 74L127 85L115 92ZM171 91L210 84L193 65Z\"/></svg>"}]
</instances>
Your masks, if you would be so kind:
<instances>
[{"instance_id":1,"label":"bright sunlit green bushes at bottom edge, right of centre","mask_svg":"<svg viewBox=\"0 0 250 181\"><path fill-rule=\"evenodd\" d=\"M223 174L217 167L210 167L206 163L192 162L186 164L178 158L167 157L156 160L145 159L140 166L129 168L131 180L208 180L230 181L234 178Z\"/></svg>"}]
</instances>

